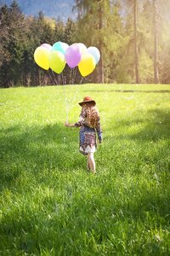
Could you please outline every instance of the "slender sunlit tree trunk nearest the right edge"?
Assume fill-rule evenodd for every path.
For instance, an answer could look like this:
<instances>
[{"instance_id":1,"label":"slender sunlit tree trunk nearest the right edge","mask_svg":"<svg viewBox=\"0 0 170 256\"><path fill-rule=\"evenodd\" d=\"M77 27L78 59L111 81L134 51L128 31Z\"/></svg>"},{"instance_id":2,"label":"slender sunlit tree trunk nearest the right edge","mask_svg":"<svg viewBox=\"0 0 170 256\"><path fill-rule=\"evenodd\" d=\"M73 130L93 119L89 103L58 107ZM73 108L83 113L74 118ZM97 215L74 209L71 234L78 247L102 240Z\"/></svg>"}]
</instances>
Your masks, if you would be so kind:
<instances>
[{"instance_id":1,"label":"slender sunlit tree trunk nearest the right edge","mask_svg":"<svg viewBox=\"0 0 170 256\"><path fill-rule=\"evenodd\" d=\"M156 22L156 0L153 0L153 9L154 9L154 82L159 84L159 73L157 67L157 22Z\"/></svg>"}]
</instances>

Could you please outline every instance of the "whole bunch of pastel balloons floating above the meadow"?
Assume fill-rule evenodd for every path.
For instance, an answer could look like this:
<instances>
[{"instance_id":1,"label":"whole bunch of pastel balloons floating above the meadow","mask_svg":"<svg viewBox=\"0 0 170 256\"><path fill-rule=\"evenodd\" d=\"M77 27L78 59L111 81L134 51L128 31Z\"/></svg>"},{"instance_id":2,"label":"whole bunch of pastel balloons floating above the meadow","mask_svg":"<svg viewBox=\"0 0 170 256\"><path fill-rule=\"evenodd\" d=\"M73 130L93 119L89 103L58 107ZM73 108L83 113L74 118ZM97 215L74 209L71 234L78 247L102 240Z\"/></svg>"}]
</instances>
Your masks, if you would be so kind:
<instances>
[{"instance_id":1,"label":"whole bunch of pastel balloons floating above the meadow","mask_svg":"<svg viewBox=\"0 0 170 256\"><path fill-rule=\"evenodd\" d=\"M34 60L39 67L48 70L51 68L55 73L62 73L65 64L71 68L77 67L82 77L94 71L99 62L99 49L94 46L87 48L82 43L65 44L56 42L53 46L42 44L34 52Z\"/></svg>"}]
</instances>

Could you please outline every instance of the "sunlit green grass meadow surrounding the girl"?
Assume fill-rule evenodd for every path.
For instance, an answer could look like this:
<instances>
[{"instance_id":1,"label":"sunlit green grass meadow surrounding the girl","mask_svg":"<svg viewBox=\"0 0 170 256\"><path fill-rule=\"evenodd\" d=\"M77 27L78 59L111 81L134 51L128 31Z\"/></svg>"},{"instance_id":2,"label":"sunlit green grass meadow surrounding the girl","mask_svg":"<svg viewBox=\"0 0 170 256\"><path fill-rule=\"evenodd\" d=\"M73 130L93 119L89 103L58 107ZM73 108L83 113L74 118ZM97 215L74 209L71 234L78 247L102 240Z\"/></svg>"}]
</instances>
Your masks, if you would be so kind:
<instances>
[{"instance_id":1,"label":"sunlit green grass meadow surrounding the girl","mask_svg":"<svg viewBox=\"0 0 170 256\"><path fill-rule=\"evenodd\" d=\"M78 152L77 102L98 103L97 175ZM0 91L0 255L170 255L170 86Z\"/></svg>"}]
</instances>

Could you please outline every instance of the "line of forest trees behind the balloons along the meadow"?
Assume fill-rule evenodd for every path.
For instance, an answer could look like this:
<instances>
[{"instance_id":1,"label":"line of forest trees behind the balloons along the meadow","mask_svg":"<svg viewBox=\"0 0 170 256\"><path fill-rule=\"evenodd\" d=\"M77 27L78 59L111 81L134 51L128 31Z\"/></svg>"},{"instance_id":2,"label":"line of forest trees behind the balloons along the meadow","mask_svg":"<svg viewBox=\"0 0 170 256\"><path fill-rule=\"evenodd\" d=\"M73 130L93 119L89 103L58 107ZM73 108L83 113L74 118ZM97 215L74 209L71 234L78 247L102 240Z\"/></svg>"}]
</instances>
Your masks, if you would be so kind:
<instances>
[{"instance_id":1,"label":"line of forest trees behind the balloons along the meadow","mask_svg":"<svg viewBox=\"0 0 170 256\"><path fill-rule=\"evenodd\" d=\"M66 23L23 15L14 1L0 8L0 86L48 84L170 84L170 8L165 0L76 0L77 20ZM99 64L86 79L68 66L58 75L37 67L41 44L82 42L96 46Z\"/></svg>"}]
</instances>

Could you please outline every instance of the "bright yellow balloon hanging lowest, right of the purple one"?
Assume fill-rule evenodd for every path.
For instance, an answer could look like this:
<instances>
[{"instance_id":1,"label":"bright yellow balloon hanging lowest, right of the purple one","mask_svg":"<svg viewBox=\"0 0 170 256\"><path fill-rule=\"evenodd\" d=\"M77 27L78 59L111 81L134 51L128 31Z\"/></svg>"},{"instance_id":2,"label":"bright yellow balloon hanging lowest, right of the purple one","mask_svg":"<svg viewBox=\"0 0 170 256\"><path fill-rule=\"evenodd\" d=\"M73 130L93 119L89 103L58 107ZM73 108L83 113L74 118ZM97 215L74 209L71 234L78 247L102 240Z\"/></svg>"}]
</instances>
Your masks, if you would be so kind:
<instances>
[{"instance_id":1,"label":"bright yellow balloon hanging lowest, right of the purple one","mask_svg":"<svg viewBox=\"0 0 170 256\"><path fill-rule=\"evenodd\" d=\"M82 55L82 60L78 64L78 69L82 74L82 77L88 76L88 74L94 71L94 68L95 68L94 56L90 54Z\"/></svg>"}]
</instances>

